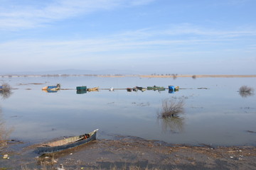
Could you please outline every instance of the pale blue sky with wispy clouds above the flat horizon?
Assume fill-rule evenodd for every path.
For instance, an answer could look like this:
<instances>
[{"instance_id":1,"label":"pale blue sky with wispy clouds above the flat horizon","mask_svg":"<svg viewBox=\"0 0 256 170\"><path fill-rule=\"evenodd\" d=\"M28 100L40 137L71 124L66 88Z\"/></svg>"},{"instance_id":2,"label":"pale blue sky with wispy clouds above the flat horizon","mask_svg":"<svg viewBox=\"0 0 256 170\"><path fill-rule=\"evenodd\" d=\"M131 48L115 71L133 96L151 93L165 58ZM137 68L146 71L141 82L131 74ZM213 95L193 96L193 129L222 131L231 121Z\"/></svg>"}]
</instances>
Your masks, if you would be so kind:
<instances>
[{"instance_id":1,"label":"pale blue sky with wispy clouds above the flat horizon","mask_svg":"<svg viewBox=\"0 0 256 170\"><path fill-rule=\"evenodd\" d=\"M0 0L0 74L255 74L255 8L255 0Z\"/></svg>"}]
</instances>

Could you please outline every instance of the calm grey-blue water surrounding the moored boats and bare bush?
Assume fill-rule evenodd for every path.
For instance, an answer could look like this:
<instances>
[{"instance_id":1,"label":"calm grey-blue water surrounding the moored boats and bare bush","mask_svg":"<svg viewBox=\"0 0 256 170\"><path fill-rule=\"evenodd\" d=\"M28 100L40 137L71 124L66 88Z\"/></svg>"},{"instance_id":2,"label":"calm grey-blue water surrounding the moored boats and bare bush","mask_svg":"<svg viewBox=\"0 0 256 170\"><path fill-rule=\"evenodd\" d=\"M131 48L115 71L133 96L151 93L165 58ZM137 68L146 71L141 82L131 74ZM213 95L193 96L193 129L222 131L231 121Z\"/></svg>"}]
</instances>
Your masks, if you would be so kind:
<instances>
[{"instance_id":1,"label":"calm grey-blue water surrounding the moored boats and bare bush","mask_svg":"<svg viewBox=\"0 0 256 170\"><path fill-rule=\"evenodd\" d=\"M102 78L17 77L0 78L14 89L1 99L1 118L11 139L38 143L55 137L80 135L100 129L98 138L132 135L190 145L256 145L256 95L242 97L238 89L256 89L255 78ZM31 83L43 83L39 85ZM61 84L57 93L43 86ZM100 90L76 94L75 87L114 89L134 86L180 86L169 91ZM198 89L198 88L207 89ZM29 90L28 90L29 89ZM183 98L184 113L178 118L157 118L162 101Z\"/></svg>"}]
</instances>

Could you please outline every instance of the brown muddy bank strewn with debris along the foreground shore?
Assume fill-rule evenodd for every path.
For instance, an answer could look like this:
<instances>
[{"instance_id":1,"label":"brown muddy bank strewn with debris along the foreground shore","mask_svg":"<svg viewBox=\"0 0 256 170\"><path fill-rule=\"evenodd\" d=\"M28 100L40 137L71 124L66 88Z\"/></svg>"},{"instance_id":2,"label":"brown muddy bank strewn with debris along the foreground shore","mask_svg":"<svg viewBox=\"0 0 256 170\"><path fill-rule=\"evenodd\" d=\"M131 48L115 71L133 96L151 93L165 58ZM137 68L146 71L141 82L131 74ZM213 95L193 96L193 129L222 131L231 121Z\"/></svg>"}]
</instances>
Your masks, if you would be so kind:
<instances>
[{"instance_id":1,"label":"brown muddy bank strewn with debris along the foreground shore","mask_svg":"<svg viewBox=\"0 0 256 170\"><path fill-rule=\"evenodd\" d=\"M139 137L95 140L41 157L31 154L35 147L4 160L8 164L2 159L0 168L56 169L62 164L64 169L256 169L256 147L170 145Z\"/></svg>"}]
</instances>

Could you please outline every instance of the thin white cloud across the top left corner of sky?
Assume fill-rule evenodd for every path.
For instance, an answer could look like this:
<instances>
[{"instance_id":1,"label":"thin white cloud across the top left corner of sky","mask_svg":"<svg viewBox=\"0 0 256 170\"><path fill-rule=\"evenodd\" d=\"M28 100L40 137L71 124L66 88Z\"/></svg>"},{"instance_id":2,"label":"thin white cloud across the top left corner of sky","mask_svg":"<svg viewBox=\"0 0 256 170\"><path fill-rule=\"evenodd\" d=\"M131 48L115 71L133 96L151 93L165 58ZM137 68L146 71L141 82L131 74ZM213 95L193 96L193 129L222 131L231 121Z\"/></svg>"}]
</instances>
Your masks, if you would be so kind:
<instances>
[{"instance_id":1,"label":"thin white cloud across the top left corner of sky","mask_svg":"<svg viewBox=\"0 0 256 170\"><path fill-rule=\"evenodd\" d=\"M2 4L0 29L34 28L95 11L149 4L154 0L55 0L48 4Z\"/></svg>"}]
</instances>

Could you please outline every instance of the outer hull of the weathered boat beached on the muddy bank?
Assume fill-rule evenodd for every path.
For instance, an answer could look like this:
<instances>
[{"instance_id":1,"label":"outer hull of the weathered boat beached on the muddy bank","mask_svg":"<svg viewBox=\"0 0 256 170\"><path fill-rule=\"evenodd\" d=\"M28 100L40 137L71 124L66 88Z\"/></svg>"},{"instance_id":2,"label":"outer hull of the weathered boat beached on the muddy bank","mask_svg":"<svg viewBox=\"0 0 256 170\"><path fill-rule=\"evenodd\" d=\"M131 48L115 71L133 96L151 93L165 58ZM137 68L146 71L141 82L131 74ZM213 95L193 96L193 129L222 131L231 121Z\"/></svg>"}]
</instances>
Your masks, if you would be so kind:
<instances>
[{"instance_id":1,"label":"outer hull of the weathered boat beached on the muddy bank","mask_svg":"<svg viewBox=\"0 0 256 170\"><path fill-rule=\"evenodd\" d=\"M97 134L97 130L90 132L90 137L88 137L87 139L82 139L82 140L78 140L76 142L70 142L66 145L59 145L59 146L53 146L53 147L37 147L36 148L36 153L38 154L49 154L49 153L53 153L53 152L60 152L64 149L69 149L69 148L73 148L73 147L77 147L79 145L91 142L92 140L96 140L96 134ZM81 137L80 136L76 136L76 137L69 137L65 140L77 140ZM63 140L59 140L56 142L62 142Z\"/></svg>"}]
</instances>

